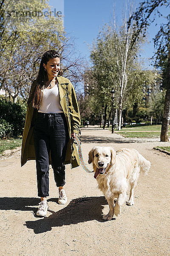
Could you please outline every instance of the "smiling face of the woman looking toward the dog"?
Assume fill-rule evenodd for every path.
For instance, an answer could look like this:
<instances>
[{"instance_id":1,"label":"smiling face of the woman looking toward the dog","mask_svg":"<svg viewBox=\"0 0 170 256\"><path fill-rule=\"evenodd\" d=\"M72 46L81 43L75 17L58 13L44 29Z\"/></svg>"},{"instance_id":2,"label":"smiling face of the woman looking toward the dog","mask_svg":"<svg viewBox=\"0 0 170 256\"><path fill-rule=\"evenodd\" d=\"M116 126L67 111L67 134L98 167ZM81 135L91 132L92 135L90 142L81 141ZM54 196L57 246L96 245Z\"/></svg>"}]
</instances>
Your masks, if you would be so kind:
<instances>
[{"instance_id":1,"label":"smiling face of the woman looking toward the dog","mask_svg":"<svg viewBox=\"0 0 170 256\"><path fill-rule=\"evenodd\" d=\"M59 58L51 58L47 62L47 65L43 64L48 75L48 79L53 79L56 77L60 70L60 59Z\"/></svg>"}]
</instances>

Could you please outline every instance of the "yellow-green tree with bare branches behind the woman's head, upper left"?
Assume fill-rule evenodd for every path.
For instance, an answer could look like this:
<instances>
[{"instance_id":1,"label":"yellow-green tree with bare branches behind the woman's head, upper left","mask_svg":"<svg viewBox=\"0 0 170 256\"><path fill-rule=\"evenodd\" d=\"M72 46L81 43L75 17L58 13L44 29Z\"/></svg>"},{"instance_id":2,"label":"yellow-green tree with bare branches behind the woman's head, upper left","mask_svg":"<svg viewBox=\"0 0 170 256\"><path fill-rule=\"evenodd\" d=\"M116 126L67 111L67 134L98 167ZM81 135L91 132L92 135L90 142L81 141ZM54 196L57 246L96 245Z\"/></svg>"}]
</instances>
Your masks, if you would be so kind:
<instances>
[{"instance_id":1,"label":"yellow-green tree with bare branches behind the woman's head, upper left","mask_svg":"<svg viewBox=\"0 0 170 256\"><path fill-rule=\"evenodd\" d=\"M74 83L80 81L82 58L73 57L73 42L66 37L61 17L38 15L43 9L51 12L46 0L4 0L1 7L0 88L8 92L9 99L14 101L18 95L27 99L47 49L57 49L65 76Z\"/></svg>"}]
</instances>

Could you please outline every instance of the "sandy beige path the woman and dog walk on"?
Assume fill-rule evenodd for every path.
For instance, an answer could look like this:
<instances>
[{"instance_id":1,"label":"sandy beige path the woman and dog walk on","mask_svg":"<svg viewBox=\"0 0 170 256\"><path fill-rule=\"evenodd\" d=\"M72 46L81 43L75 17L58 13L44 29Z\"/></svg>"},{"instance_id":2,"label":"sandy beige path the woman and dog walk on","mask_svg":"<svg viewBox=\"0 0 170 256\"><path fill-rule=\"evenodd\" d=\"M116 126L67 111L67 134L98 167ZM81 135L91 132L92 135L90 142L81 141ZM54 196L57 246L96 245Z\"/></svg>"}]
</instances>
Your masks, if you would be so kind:
<instances>
[{"instance_id":1,"label":"sandy beige path the woman and dog walk on","mask_svg":"<svg viewBox=\"0 0 170 256\"><path fill-rule=\"evenodd\" d=\"M123 205L120 217L102 221L108 213L94 173L82 167L66 168L66 205L57 203L58 191L50 169L47 217L36 216L35 161L20 167L20 151L0 161L0 255L12 256L169 256L170 156L154 146L170 145L159 139L129 139L90 126L82 129L82 151L94 145L137 149L151 162L139 177L135 205ZM92 166L88 165L92 170Z\"/></svg>"}]
</instances>

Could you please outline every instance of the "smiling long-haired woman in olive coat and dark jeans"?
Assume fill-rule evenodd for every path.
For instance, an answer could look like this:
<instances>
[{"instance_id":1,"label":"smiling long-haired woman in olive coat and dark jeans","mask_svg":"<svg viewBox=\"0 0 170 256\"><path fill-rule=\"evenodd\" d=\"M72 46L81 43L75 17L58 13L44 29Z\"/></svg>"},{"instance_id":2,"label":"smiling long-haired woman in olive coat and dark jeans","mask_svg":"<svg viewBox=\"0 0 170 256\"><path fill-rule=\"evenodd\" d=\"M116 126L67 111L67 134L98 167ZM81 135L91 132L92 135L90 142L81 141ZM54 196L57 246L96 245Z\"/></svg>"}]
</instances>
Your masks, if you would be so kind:
<instances>
[{"instance_id":1,"label":"smiling long-haired woman in olive coat and dark jeans","mask_svg":"<svg viewBox=\"0 0 170 256\"><path fill-rule=\"evenodd\" d=\"M62 73L59 53L46 51L27 102L21 166L27 160L36 160L38 196L41 197L39 216L45 216L48 210L49 164L59 188L59 204L67 202L64 164L71 163L71 169L79 166L74 145L75 134L80 132L79 107L74 87Z\"/></svg>"}]
</instances>

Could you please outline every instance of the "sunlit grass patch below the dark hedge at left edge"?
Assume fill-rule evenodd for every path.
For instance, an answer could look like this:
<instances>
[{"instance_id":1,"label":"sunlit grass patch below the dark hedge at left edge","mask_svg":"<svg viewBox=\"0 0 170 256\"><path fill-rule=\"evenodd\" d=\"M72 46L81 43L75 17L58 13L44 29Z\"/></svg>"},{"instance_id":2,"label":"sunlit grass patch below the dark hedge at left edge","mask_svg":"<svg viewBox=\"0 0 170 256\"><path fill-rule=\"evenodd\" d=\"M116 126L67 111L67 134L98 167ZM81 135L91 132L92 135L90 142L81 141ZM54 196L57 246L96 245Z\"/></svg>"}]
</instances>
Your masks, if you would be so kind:
<instances>
[{"instance_id":1,"label":"sunlit grass patch below the dark hedge at left edge","mask_svg":"<svg viewBox=\"0 0 170 256\"><path fill-rule=\"evenodd\" d=\"M14 149L20 147L22 139L9 139L9 140L0 140L0 156L3 155L3 151L7 149Z\"/></svg>"}]
</instances>

